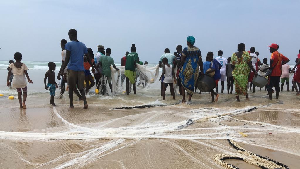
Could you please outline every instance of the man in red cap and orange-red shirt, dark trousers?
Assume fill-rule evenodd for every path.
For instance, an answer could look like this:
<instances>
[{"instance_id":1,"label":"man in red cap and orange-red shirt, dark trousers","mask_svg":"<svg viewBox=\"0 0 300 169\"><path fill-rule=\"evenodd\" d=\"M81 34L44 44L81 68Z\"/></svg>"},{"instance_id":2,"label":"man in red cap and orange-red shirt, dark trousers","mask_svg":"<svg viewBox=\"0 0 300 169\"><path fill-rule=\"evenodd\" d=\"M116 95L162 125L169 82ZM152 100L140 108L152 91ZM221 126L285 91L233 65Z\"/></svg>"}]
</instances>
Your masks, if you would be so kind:
<instances>
[{"instance_id":1,"label":"man in red cap and orange-red shirt, dark trousers","mask_svg":"<svg viewBox=\"0 0 300 169\"><path fill-rule=\"evenodd\" d=\"M288 63L289 59L283 54L280 54L277 49L278 45L275 43L272 43L270 46L270 52L271 54L271 59L270 59L270 68L272 70L272 73L269 75L269 84L267 85L267 91L270 100L272 100L272 93L273 91L273 86L275 86L276 90L276 98L278 99L279 97L279 92L280 92L280 75L281 75L281 66Z\"/></svg>"}]
</instances>

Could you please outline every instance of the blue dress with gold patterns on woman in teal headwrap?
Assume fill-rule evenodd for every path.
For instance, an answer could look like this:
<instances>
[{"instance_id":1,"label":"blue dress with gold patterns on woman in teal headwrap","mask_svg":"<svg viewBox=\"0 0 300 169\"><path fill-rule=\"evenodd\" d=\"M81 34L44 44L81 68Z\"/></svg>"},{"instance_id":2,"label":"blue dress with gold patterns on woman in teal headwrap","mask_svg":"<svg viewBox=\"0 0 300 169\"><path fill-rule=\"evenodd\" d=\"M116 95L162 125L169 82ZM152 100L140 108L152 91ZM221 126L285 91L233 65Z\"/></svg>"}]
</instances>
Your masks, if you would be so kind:
<instances>
[{"instance_id":1,"label":"blue dress with gold patterns on woman in teal headwrap","mask_svg":"<svg viewBox=\"0 0 300 169\"><path fill-rule=\"evenodd\" d=\"M179 72L181 84L187 91L187 94L193 95L195 85L198 80L199 64L198 60L202 57L201 51L195 46L184 48L182 56L185 57L182 69Z\"/></svg>"}]
</instances>

